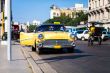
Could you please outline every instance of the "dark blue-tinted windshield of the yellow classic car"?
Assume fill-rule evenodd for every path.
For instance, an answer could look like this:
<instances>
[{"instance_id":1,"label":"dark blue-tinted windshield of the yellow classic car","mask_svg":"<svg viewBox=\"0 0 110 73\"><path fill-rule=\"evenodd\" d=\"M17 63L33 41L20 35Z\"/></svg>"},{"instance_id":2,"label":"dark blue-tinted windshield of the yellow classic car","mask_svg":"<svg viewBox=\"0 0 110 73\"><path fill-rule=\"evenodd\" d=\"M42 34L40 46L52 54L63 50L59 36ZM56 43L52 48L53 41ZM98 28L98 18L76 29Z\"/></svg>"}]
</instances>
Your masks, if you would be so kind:
<instances>
[{"instance_id":1,"label":"dark blue-tinted windshield of the yellow classic car","mask_svg":"<svg viewBox=\"0 0 110 73\"><path fill-rule=\"evenodd\" d=\"M63 25L41 25L36 28L36 31L65 31Z\"/></svg>"}]
</instances>

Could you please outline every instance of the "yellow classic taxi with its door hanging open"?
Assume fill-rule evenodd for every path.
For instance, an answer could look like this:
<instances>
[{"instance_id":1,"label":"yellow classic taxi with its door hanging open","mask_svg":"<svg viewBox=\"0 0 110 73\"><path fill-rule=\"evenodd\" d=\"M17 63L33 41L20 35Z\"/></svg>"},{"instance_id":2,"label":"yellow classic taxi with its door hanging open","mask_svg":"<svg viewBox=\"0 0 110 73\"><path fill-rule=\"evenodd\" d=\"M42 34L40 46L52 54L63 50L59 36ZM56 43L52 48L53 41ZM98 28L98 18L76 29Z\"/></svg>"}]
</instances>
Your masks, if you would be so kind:
<instances>
[{"instance_id":1,"label":"yellow classic taxi with its door hanging open","mask_svg":"<svg viewBox=\"0 0 110 73\"><path fill-rule=\"evenodd\" d=\"M34 33L20 33L20 44L31 45L32 51L39 54L46 49L67 48L73 52L75 47L74 35L66 32L63 25L40 25Z\"/></svg>"}]
</instances>

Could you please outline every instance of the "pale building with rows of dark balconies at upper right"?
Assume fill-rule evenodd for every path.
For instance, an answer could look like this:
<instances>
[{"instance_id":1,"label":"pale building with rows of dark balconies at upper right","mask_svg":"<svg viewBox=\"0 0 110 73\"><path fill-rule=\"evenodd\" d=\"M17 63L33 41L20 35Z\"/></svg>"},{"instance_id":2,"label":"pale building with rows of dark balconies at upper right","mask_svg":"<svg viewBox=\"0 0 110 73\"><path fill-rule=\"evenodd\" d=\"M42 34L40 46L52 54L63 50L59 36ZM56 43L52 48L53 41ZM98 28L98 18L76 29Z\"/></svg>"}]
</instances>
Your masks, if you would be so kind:
<instances>
[{"instance_id":1,"label":"pale building with rows of dark balconies at upper right","mask_svg":"<svg viewBox=\"0 0 110 73\"><path fill-rule=\"evenodd\" d=\"M106 28L110 28L110 0L89 0L88 21L105 23Z\"/></svg>"}]
</instances>

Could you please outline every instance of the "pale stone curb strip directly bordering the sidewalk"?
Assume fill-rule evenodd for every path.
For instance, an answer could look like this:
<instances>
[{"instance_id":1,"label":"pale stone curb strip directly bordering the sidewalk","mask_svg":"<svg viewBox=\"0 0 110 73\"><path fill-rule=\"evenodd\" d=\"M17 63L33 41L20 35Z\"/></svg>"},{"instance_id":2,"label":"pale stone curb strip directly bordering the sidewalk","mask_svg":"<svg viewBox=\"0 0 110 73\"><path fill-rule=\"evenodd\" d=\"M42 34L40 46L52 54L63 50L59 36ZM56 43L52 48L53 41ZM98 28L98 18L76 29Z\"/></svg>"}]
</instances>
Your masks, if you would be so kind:
<instances>
[{"instance_id":1,"label":"pale stone curb strip directly bordering the sidewalk","mask_svg":"<svg viewBox=\"0 0 110 73\"><path fill-rule=\"evenodd\" d=\"M33 73L43 73L42 70L36 65L36 63L32 59L32 57L28 54L28 52L25 49L23 49L22 47L21 47L21 50L22 50L25 58L27 59L29 65L31 66Z\"/></svg>"}]
</instances>

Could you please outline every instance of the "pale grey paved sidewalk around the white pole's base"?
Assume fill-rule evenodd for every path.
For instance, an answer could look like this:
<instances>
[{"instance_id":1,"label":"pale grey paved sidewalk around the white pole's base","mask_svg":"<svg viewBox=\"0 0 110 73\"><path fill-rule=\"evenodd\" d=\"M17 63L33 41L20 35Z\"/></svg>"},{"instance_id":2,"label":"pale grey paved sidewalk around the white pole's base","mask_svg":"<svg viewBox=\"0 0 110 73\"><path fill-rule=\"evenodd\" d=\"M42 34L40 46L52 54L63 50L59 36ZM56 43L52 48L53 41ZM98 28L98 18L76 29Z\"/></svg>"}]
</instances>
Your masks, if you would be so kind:
<instances>
[{"instance_id":1,"label":"pale grey paved sidewalk around the white pole's base","mask_svg":"<svg viewBox=\"0 0 110 73\"><path fill-rule=\"evenodd\" d=\"M0 41L0 73L33 73L17 44L12 46L12 61L8 61L7 48Z\"/></svg>"}]
</instances>

